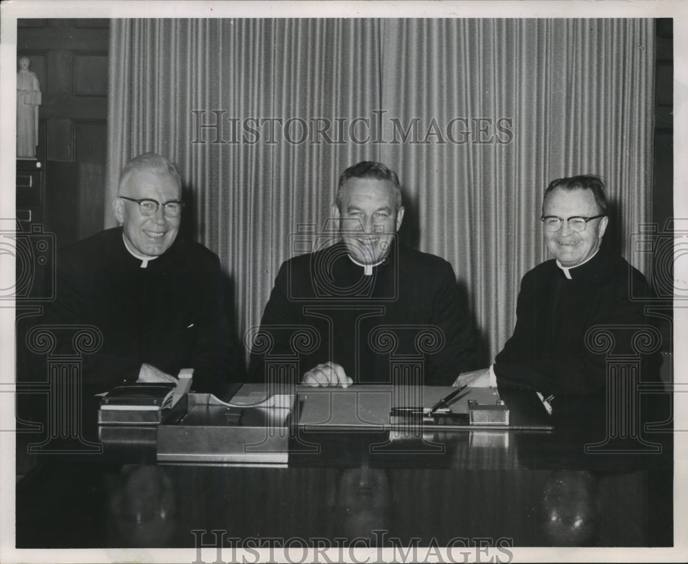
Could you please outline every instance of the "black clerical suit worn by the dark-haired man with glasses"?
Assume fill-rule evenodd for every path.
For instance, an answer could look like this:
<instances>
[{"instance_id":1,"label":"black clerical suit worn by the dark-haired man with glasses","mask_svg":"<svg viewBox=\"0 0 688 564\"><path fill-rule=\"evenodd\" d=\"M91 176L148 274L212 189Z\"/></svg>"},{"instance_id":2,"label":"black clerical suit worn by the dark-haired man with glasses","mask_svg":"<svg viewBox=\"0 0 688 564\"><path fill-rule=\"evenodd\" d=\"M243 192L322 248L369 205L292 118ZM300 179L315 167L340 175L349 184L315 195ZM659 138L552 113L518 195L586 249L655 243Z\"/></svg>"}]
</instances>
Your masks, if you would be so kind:
<instances>
[{"instance_id":1,"label":"black clerical suit worn by the dark-haired man with glasses","mask_svg":"<svg viewBox=\"0 0 688 564\"><path fill-rule=\"evenodd\" d=\"M606 353L593 352L585 333L596 325L647 326L645 277L604 248L588 262L568 269L570 280L552 259L524 275L513 336L495 357L499 388L529 388L552 395L589 395L606 384ZM627 332L611 330L616 353L630 352ZM648 365L649 366L649 365ZM648 370L641 375L654 379Z\"/></svg>"}]
</instances>

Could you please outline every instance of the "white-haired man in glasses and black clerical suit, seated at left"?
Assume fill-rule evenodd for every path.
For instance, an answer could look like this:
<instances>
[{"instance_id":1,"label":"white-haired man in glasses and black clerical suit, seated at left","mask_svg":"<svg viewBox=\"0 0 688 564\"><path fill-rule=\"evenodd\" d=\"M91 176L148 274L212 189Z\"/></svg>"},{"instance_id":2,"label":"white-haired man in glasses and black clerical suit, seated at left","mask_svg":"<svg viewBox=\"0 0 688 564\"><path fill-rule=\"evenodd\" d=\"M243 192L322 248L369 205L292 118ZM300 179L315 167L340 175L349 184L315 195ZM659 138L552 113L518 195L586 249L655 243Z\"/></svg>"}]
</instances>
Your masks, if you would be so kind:
<instances>
[{"instance_id":1,"label":"white-haired man in glasses and black clerical suit, seated at left","mask_svg":"<svg viewBox=\"0 0 688 564\"><path fill-rule=\"evenodd\" d=\"M222 395L238 365L230 353L219 259L178 236L182 182L177 167L147 153L122 169L112 209L120 227L58 253L50 315L103 333L85 355L94 391L133 382L176 382L193 368L193 388Z\"/></svg>"}]
</instances>

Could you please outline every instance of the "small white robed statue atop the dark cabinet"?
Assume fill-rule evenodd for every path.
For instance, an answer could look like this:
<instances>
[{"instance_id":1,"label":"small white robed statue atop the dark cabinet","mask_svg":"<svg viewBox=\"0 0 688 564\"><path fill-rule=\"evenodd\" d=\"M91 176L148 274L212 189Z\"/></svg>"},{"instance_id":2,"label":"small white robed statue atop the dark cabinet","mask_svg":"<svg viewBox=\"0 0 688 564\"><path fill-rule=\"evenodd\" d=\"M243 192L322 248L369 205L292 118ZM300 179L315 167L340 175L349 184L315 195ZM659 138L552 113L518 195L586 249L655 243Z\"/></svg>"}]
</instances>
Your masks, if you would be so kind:
<instances>
[{"instance_id":1,"label":"small white robed statue atop the dark cabinet","mask_svg":"<svg viewBox=\"0 0 688 564\"><path fill-rule=\"evenodd\" d=\"M39 144L39 105L41 88L38 76L29 70L28 57L19 57L17 71L17 157L36 158Z\"/></svg>"}]
</instances>

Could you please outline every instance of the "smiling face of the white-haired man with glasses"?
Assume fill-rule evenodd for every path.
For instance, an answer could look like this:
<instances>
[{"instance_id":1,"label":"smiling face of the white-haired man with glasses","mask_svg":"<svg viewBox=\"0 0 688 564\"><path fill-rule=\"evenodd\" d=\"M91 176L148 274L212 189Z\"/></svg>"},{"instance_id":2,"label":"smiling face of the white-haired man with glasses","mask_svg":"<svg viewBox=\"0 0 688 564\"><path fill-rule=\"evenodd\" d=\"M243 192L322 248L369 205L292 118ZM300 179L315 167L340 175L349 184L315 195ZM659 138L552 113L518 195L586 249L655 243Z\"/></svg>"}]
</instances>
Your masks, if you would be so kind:
<instances>
[{"instance_id":1,"label":"smiling face of the white-haired man with glasses","mask_svg":"<svg viewBox=\"0 0 688 564\"><path fill-rule=\"evenodd\" d=\"M181 187L169 174L155 174L146 169L135 169L120 186L120 196L141 200L149 198L160 204L181 199ZM177 238L181 216L170 218L162 205L152 216L144 216L136 202L115 198L115 217L122 224L125 238L137 253L147 257L162 255Z\"/></svg>"}]
</instances>

